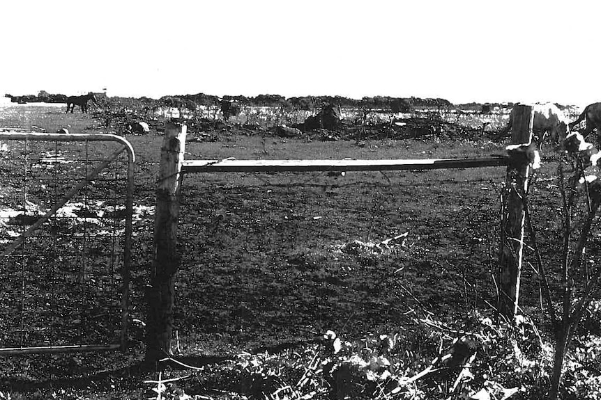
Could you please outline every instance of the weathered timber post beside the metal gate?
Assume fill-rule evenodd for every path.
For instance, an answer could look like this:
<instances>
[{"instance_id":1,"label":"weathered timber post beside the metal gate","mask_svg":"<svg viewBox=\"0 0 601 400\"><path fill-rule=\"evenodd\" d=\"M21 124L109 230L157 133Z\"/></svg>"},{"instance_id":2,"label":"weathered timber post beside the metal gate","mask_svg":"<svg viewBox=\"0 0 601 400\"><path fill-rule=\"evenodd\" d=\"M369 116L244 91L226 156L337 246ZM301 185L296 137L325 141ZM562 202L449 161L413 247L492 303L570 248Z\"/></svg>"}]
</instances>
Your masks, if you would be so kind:
<instances>
[{"instance_id":1,"label":"weathered timber post beside the metal gate","mask_svg":"<svg viewBox=\"0 0 601 400\"><path fill-rule=\"evenodd\" d=\"M174 278L179 268L177 225L181 193L181 165L185 125L165 124L157 183L154 227L154 259L147 293L146 361L170 353L173 330Z\"/></svg>"}]
</instances>

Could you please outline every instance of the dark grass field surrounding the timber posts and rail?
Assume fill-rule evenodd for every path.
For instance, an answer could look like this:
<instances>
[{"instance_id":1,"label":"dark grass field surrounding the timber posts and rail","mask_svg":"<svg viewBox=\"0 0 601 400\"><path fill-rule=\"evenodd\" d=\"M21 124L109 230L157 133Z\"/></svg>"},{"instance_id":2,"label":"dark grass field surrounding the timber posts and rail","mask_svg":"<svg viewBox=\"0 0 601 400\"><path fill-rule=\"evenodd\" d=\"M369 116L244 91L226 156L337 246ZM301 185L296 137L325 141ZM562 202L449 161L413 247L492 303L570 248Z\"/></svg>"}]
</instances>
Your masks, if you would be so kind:
<instances>
[{"instance_id":1,"label":"dark grass field surrounding the timber posts and rail","mask_svg":"<svg viewBox=\"0 0 601 400\"><path fill-rule=\"evenodd\" d=\"M64 114L63 108L20 105L0 109L0 129L55 131L59 127L68 127L72 133L112 133L98 120L80 113ZM162 136L151 131L128 140L137 157L135 204L151 207ZM503 147L485 138L326 142L240 134L234 129L223 132L218 141L190 141L185 158L478 157L503 154ZM556 191L551 177L554 168L552 161L545 163L533 189L541 248L550 260L556 257L557 246L554 209L558 202L549 195ZM469 314L494 314L499 194L504 179L505 168L500 167L344 176L185 176L174 351L196 365L205 365L178 387L205 396L200 399L261 397L266 387L253 394L254 383L236 375L238 369L245 379L259 372L238 367L251 362L250 355L264 351L287 360L282 363L290 362L296 352L301 365L300 358L317 354L315 346L327 330L349 341L349 346L367 346L379 335L403 337L403 361L395 373L403 370L407 376L420 371L436 356L438 341L448 344L452 339L443 330L424 327L420 319L432 318L463 329L471 321ZM144 216L135 229L130 316L144 321L153 216ZM593 256L595 251L593 246ZM530 267L524 268L522 299L525 310L538 307L539 287ZM540 313L532 317L546 335ZM33 394L45 398L52 392L73 399L148 397L144 391L151 385L142 381L156 375L135 372L142 357L144 330L134 324L130 335L130 350L125 354L0 358L5 371L0 390L15 399ZM225 361L206 364L225 359L234 360L233 366ZM183 374L167 371L165 376ZM477 380L482 383L485 378ZM168 398L178 398L176 386L171 386ZM321 397L327 397L326 393L317 390L306 398Z\"/></svg>"}]
</instances>

